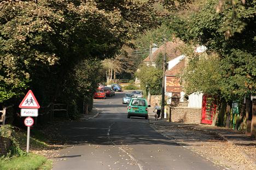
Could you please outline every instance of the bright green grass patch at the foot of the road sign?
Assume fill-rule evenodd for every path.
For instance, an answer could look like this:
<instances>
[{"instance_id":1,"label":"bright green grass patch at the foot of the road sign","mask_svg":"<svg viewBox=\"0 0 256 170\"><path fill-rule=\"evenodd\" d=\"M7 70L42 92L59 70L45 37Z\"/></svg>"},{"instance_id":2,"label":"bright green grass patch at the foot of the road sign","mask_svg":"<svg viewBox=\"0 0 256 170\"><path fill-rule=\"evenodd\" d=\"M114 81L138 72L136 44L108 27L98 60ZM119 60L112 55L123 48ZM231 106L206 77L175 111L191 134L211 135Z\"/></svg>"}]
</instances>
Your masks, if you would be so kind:
<instances>
[{"instance_id":1,"label":"bright green grass patch at the foot of the road sign","mask_svg":"<svg viewBox=\"0 0 256 170\"><path fill-rule=\"evenodd\" d=\"M35 170L35 169L51 169L52 162L47 160L46 157L27 154L19 157L2 158L0 159L1 170Z\"/></svg>"}]
</instances>

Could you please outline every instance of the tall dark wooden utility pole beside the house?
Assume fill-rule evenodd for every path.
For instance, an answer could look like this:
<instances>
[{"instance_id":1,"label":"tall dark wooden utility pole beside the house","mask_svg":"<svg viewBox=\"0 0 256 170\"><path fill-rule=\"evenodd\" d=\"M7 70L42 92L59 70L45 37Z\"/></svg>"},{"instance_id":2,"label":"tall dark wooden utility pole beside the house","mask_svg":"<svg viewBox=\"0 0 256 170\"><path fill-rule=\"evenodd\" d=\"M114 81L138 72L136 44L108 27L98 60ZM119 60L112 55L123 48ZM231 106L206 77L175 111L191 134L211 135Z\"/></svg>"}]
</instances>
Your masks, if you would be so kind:
<instances>
[{"instance_id":1,"label":"tall dark wooden utility pole beside the house","mask_svg":"<svg viewBox=\"0 0 256 170\"><path fill-rule=\"evenodd\" d=\"M165 66L166 66L166 39L165 42L165 54L162 56L162 103L161 103L161 119L165 116Z\"/></svg>"}]
</instances>

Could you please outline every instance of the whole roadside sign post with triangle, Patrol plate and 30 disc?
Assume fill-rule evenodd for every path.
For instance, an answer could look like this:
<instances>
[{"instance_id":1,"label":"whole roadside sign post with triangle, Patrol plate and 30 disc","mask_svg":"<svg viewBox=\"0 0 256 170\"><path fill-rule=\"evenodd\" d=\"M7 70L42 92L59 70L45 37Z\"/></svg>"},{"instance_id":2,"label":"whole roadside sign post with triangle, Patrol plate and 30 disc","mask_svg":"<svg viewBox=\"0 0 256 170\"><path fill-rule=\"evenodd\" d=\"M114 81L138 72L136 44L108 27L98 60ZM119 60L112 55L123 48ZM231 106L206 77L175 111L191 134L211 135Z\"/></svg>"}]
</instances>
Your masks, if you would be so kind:
<instances>
[{"instance_id":1,"label":"whole roadside sign post with triangle, Patrol plate and 30 disc","mask_svg":"<svg viewBox=\"0 0 256 170\"><path fill-rule=\"evenodd\" d=\"M38 116L38 108L40 108L37 99L35 98L33 92L28 90L25 98L21 101L19 107L20 115L26 117L24 124L27 126L27 153L30 149L30 126L34 124L34 119L32 117Z\"/></svg>"}]
</instances>

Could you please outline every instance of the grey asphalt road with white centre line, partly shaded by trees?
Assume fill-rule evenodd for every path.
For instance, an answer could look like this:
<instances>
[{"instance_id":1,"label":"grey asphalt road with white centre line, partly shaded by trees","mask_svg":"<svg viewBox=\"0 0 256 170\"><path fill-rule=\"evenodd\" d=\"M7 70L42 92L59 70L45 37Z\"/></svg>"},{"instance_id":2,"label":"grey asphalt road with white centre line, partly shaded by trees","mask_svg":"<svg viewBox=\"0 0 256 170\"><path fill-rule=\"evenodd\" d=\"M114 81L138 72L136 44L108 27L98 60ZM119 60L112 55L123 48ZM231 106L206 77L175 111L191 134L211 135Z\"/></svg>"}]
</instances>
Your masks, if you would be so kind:
<instances>
[{"instance_id":1,"label":"grey asphalt road with white centre line, partly shaded by trees","mask_svg":"<svg viewBox=\"0 0 256 170\"><path fill-rule=\"evenodd\" d=\"M223 169L156 132L149 120L127 119L126 105L121 101L123 94L95 100L98 117L61 128L70 147L58 152L54 170Z\"/></svg>"}]
</instances>

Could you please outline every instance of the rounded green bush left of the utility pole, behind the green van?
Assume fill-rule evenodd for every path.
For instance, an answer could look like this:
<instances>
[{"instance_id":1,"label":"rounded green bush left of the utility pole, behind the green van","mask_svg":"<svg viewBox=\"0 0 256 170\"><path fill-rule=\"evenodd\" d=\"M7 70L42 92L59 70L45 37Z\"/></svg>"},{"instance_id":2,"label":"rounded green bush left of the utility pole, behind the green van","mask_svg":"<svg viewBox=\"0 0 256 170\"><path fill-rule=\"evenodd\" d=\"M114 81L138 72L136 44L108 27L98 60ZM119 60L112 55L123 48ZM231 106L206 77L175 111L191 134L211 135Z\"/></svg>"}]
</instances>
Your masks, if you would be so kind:
<instances>
[{"instance_id":1,"label":"rounded green bush left of the utility pole, behind the green van","mask_svg":"<svg viewBox=\"0 0 256 170\"><path fill-rule=\"evenodd\" d=\"M149 90L150 94L161 94L162 88L162 70L153 66L142 65L135 74L141 81L141 88Z\"/></svg>"}]
</instances>

